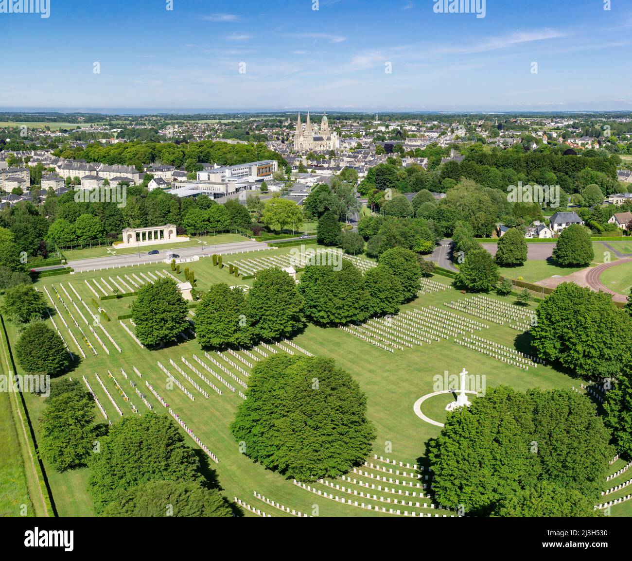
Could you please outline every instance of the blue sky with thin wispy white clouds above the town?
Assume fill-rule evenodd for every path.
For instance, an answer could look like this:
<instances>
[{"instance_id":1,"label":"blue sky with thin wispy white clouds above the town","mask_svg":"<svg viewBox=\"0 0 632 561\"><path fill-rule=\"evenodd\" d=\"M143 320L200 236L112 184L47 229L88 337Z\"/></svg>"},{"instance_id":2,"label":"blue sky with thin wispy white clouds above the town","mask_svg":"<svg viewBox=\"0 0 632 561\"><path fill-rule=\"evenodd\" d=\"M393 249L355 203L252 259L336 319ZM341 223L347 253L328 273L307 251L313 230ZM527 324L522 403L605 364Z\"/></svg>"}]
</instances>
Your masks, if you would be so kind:
<instances>
[{"instance_id":1,"label":"blue sky with thin wispy white clouds above the town","mask_svg":"<svg viewBox=\"0 0 632 561\"><path fill-rule=\"evenodd\" d=\"M314 1L0 13L0 107L632 111L629 0L487 0L484 18L434 0Z\"/></svg>"}]
</instances>

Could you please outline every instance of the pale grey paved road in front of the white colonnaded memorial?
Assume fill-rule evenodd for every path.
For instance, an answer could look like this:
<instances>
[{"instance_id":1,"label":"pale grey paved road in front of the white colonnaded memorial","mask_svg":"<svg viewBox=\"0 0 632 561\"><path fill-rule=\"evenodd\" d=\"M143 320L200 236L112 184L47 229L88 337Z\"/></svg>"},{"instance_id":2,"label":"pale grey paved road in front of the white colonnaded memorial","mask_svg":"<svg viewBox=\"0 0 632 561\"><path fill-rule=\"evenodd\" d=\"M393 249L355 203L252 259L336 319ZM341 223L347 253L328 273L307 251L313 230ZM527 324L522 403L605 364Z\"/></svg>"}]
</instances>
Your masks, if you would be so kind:
<instances>
[{"instance_id":1,"label":"pale grey paved road in front of the white colonnaded memorial","mask_svg":"<svg viewBox=\"0 0 632 561\"><path fill-rule=\"evenodd\" d=\"M107 257L95 257L92 259L81 259L69 261L68 265L76 271L87 271L92 269L121 267L125 265L142 265L143 263L162 262L167 258L168 253L177 253L181 258L189 258L195 255L212 255L213 253L234 253L236 251L252 251L267 248L268 244L258 241L237 241L233 243L222 243L219 245L202 245L178 248L178 244L174 244L173 249L160 250L157 255L149 255L151 246L145 247L145 251L138 253L126 253L125 255L108 255ZM149 248L149 250L147 249Z\"/></svg>"}]
</instances>

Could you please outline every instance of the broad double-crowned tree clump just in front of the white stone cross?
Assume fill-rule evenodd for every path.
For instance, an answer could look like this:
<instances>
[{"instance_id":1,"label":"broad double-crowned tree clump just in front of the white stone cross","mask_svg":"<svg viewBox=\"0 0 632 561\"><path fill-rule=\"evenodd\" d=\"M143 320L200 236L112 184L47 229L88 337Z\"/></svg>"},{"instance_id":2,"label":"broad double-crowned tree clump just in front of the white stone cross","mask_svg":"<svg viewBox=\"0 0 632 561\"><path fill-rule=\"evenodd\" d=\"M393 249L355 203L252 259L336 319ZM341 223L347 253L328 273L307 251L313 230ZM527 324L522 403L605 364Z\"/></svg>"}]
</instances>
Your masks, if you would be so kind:
<instances>
[{"instance_id":1,"label":"broad double-crowned tree clump just in front of the white stone cross","mask_svg":"<svg viewBox=\"0 0 632 561\"><path fill-rule=\"evenodd\" d=\"M428 443L437 502L473 516L489 516L499 501L540 481L595 504L612 455L595 405L568 390L488 388L449 413Z\"/></svg>"}]
</instances>

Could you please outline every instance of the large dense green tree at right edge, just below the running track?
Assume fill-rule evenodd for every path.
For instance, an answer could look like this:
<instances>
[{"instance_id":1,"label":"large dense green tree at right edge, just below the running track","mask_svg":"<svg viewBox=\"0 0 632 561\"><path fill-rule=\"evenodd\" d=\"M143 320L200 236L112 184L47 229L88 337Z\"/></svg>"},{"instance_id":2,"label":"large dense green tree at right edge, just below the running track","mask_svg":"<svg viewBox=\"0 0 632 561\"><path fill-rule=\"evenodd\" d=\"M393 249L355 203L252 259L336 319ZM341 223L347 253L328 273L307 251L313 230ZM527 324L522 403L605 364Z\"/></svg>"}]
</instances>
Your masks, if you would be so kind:
<instances>
[{"instance_id":1,"label":"large dense green tree at right edge, just below the running track","mask_svg":"<svg viewBox=\"0 0 632 561\"><path fill-rule=\"evenodd\" d=\"M616 378L632 349L632 319L609 294L563 282L536 310L538 356L583 377Z\"/></svg>"}]
</instances>

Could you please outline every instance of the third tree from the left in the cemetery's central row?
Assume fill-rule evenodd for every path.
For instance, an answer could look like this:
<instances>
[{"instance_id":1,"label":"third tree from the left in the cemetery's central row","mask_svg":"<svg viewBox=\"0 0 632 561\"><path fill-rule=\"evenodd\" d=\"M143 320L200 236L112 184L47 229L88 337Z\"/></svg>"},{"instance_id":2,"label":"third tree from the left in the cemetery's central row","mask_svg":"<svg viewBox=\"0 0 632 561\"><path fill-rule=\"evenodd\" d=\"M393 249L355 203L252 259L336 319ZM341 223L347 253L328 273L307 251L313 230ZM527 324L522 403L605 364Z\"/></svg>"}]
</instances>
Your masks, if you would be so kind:
<instances>
[{"instance_id":1,"label":"third tree from the left in the cemetery's central row","mask_svg":"<svg viewBox=\"0 0 632 561\"><path fill-rule=\"evenodd\" d=\"M246 318L256 340L289 337L303 327L303 298L294 279L279 268L258 272L246 298Z\"/></svg>"}]
</instances>

